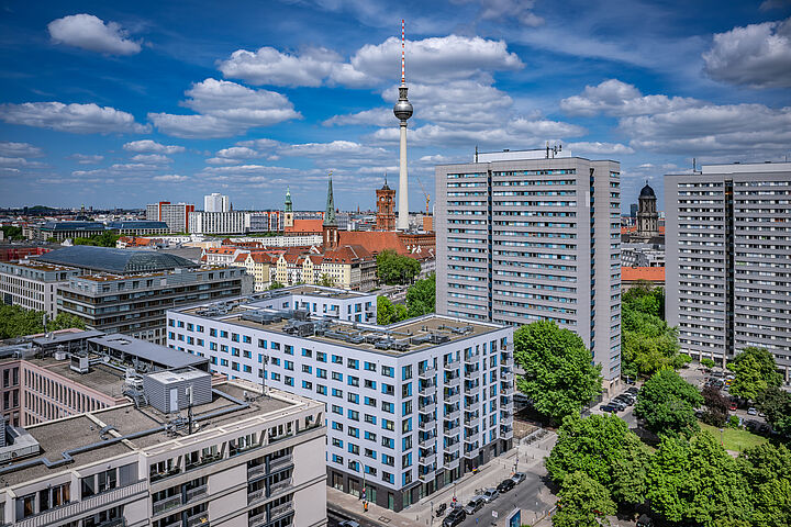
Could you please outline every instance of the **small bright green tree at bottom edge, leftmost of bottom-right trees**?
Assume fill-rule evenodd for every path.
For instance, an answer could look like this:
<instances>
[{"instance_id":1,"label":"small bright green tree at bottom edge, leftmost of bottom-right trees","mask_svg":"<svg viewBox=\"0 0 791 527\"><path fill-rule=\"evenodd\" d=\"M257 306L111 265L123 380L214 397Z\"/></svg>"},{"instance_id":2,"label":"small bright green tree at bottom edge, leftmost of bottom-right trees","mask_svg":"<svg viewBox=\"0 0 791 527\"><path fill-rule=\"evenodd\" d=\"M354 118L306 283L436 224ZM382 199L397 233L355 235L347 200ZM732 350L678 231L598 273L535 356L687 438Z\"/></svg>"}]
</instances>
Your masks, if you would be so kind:
<instances>
[{"instance_id":1,"label":"small bright green tree at bottom edge, leftmost of bottom-right trees","mask_svg":"<svg viewBox=\"0 0 791 527\"><path fill-rule=\"evenodd\" d=\"M599 527L610 525L615 514L610 492L584 472L569 474L560 485L558 512L552 517L554 527Z\"/></svg>"}]
</instances>

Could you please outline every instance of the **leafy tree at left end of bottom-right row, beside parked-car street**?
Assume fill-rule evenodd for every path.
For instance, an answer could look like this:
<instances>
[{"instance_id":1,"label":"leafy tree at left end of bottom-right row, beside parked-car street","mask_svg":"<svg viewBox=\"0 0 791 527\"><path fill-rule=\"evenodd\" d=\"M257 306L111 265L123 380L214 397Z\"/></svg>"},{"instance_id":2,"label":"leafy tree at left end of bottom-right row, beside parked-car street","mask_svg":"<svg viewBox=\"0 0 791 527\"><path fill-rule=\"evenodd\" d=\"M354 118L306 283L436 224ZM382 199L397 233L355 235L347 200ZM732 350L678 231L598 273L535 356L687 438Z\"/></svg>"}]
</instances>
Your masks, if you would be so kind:
<instances>
[{"instance_id":1,"label":"leafy tree at left end of bottom-right row, beside parked-car street","mask_svg":"<svg viewBox=\"0 0 791 527\"><path fill-rule=\"evenodd\" d=\"M575 472L584 472L593 481L609 486L615 462L623 456L628 431L626 422L614 415L580 417L567 415L545 464L557 483Z\"/></svg>"}]
</instances>

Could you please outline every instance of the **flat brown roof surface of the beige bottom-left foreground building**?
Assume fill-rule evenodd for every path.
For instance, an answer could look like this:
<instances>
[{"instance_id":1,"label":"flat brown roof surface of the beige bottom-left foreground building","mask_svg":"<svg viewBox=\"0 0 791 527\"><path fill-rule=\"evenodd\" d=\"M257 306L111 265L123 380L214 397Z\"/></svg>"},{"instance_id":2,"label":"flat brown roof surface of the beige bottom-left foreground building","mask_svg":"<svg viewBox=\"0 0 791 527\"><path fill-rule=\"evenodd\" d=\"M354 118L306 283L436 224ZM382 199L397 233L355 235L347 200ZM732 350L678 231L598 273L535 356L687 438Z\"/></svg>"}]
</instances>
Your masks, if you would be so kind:
<instances>
[{"instance_id":1,"label":"flat brown roof surface of the beige bottom-left foreground building","mask_svg":"<svg viewBox=\"0 0 791 527\"><path fill-rule=\"evenodd\" d=\"M311 405L319 405L312 400L274 389L267 390L268 396L248 402L246 407L237 404L237 401L244 401L245 392L253 395L259 394L259 391L256 393L256 388L257 385L253 383L237 380L226 381L213 386L211 403L196 405L192 408L198 424L198 429L193 434L234 424L256 415L275 414L272 415L275 418L287 411L297 412ZM213 415L209 422L201 419L201 416L221 410L227 410L229 412L223 415ZM187 412L185 411L181 414L186 417ZM26 427L27 433L38 441L41 451L37 456L20 458L0 468L0 486L26 483L38 478L59 473L68 468L79 468L138 449L154 447L178 437L185 437L187 435L186 430L177 431L177 436L164 430L163 426L170 421L170 417L158 412L153 406L136 408L134 404L129 403ZM112 428L105 430L102 436L101 431L104 426ZM146 430L151 430L151 433L133 439L102 445L102 442L120 436L129 436ZM48 469L42 463L30 463L30 461L41 460L42 458L57 461L63 459L63 452L65 451L92 445L96 445L96 447L79 453L73 453L74 462L67 466ZM19 467L19 469L14 470L15 467Z\"/></svg>"}]
</instances>

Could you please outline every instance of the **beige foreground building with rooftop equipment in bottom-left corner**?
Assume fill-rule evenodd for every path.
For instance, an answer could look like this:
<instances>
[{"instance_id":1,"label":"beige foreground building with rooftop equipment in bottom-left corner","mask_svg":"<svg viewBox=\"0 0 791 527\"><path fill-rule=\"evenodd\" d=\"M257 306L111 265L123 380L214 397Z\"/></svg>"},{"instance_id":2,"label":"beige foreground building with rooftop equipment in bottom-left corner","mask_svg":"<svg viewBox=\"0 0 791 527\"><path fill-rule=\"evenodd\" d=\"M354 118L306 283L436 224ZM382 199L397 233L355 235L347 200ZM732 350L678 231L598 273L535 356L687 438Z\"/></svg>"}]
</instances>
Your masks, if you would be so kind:
<instances>
[{"instance_id":1,"label":"beige foreground building with rooftop equipment in bottom-left corner","mask_svg":"<svg viewBox=\"0 0 791 527\"><path fill-rule=\"evenodd\" d=\"M123 375L135 403L2 424L2 525L326 525L323 405L188 368Z\"/></svg>"}]
</instances>

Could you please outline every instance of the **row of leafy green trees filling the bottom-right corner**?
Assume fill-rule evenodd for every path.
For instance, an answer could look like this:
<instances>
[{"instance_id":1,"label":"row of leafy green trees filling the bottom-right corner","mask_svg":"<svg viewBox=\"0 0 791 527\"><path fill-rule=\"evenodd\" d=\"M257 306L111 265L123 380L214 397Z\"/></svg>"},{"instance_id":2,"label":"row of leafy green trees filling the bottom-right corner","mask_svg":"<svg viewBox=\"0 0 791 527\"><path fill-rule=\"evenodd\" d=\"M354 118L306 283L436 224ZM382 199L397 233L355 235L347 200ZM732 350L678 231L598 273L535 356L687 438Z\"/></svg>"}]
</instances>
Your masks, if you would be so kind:
<instances>
[{"instance_id":1,"label":"row of leafy green trees filling the bottom-right corner","mask_svg":"<svg viewBox=\"0 0 791 527\"><path fill-rule=\"evenodd\" d=\"M664 435L651 451L616 416L572 414L546 460L559 484L556 527L609 525L649 508L669 525L791 525L791 452L765 444L731 457L705 430Z\"/></svg>"}]
</instances>

